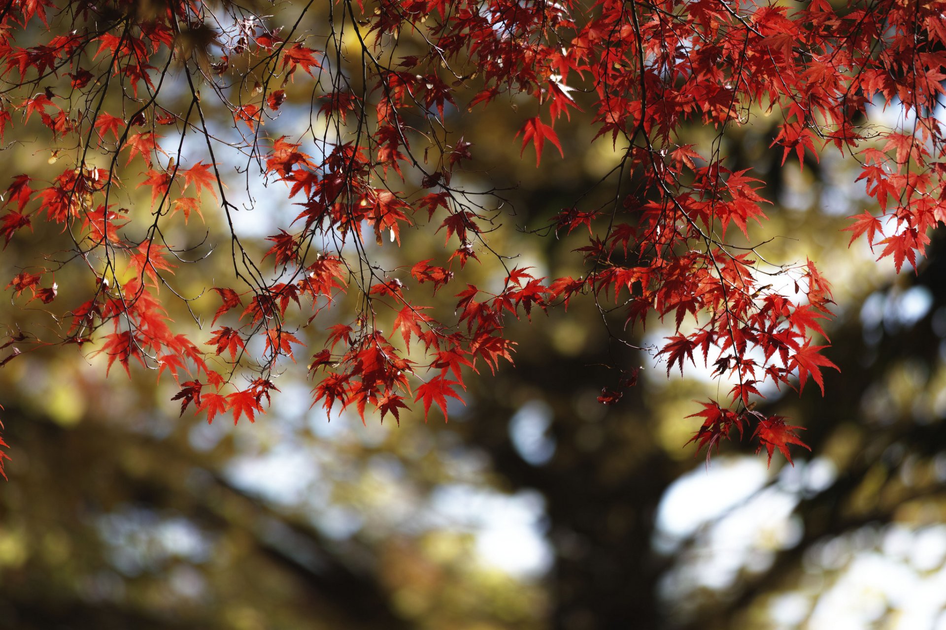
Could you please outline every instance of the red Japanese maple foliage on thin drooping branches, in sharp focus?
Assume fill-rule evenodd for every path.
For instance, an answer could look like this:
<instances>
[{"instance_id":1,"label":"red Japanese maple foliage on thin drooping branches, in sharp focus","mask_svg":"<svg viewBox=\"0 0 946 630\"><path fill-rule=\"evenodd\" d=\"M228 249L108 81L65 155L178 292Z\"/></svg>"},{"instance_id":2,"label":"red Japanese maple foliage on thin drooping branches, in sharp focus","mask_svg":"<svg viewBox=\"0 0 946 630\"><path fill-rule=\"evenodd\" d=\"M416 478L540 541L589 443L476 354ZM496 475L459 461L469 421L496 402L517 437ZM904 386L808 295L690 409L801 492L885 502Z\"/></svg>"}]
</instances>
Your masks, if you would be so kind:
<instances>
[{"instance_id":1,"label":"red Japanese maple foliage on thin drooping branches, in sharp focus","mask_svg":"<svg viewBox=\"0 0 946 630\"><path fill-rule=\"evenodd\" d=\"M182 413L251 421L298 361L326 413L399 419L420 403L446 416L469 370L513 360L511 317L584 299L616 346L657 316L674 332L648 350L668 373L708 364L736 383L693 414L700 448L735 427L770 460L789 457L797 427L754 400L762 383L824 393L830 277L766 256L762 182L731 168L724 134L775 116L782 163L822 151L855 162L876 203L853 217L851 240L898 271L916 265L946 218L944 11L946 0L12 0L0 9L0 147L29 144L44 160L6 169L0 234L34 239L6 290L45 319L10 323L2 361L74 344L106 371L172 379ZM868 122L874 105L902 108L903 125ZM573 254L583 273L541 277L491 245L515 222L501 225L502 191L479 186L490 173L464 121L496 108L518 112L511 150L537 168L583 150L559 137L573 116L613 147L606 195L568 199L534 230L587 233ZM688 142L694 125L714 139ZM277 196L295 212L257 256L237 224ZM408 230L443 247L419 261L393 252ZM221 257L227 277L201 271ZM476 265L503 280L478 285ZM171 302L189 324L170 320ZM635 382L615 366L599 400Z\"/></svg>"}]
</instances>

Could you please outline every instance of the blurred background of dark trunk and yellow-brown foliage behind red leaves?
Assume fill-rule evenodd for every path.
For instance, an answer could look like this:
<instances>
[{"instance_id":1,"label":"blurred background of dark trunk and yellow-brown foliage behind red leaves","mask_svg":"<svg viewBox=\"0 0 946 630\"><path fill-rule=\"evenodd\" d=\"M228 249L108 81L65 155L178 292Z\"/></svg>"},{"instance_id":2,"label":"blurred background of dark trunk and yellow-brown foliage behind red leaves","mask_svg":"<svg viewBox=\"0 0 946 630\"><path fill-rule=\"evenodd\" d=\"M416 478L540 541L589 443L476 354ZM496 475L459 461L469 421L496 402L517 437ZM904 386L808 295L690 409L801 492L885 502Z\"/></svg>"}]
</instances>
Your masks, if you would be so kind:
<instances>
[{"instance_id":1,"label":"blurred background of dark trunk and yellow-brown foliage behind red leaves","mask_svg":"<svg viewBox=\"0 0 946 630\"><path fill-rule=\"evenodd\" d=\"M574 116L559 130L569 160L540 170L509 150L515 102L464 132L478 149L470 171L509 187L503 220L521 229L492 245L542 276L580 274L568 253L580 241L530 231L618 159L592 141L587 114ZM691 132L694 143L712 133ZM709 369L665 380L652 356L616 350L590 300L514 324L517 365L471 377L446 425L415 413L399 426L329 421L291 372L261 421L208 425L176 418L176 388L145 370L103 379L106 357L41 349L0 370L13 445L0 625L946 628L946 243L937 233L917 272L899 277L866 245L848 248L839 230L867 203L856 173L831 156L780 166L775 133L762 117L729 128L733 170L765 179L766 230L790 237L774 255L830 269L838 303L830 396L764 392L767 412L806 429L812 452L794 467L766 468L748 435L710 464L694 460L683 417L728 385ZM10 144L0 162L13 172L48 157ZM147 191L128 194L148 204ZM292 213L254 211L237 228L259 238ZM12 241L6 276L50 233ZM403 238L415 260L432 247L427 234ZM228 261L209 264L220 267L205 278ZM194 293L206 284L187 282ZM36 313L3 308L4 321L37 325ZM647 323L646 335L664 333ZM639 385L603 406L615 364L641 366Z\"/></svg>"}]
</instances>

